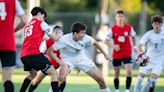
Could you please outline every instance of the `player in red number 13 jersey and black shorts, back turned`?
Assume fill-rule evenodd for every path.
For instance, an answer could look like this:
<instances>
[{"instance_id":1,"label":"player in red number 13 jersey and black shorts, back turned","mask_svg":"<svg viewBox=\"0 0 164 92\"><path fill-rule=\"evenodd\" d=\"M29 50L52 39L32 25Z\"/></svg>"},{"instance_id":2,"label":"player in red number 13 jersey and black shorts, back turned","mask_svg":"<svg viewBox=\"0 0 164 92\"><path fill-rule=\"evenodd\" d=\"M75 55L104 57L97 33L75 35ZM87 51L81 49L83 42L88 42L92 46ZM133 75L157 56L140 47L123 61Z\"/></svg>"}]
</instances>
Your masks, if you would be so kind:
<instances>
[{"instance_id":1,"label":"player in red number 13 jersey and black shorts, back turned","mask_svg":"<svg viewBox=\"0 0 164 92\"><path fill-rule=\"evenodd\" d=\"M53 92L58 92L58 73L51 65L49 60L44 56L44 54L39 51L39 47L44 34L47 34L54 41L57 40L59 36L54 35L53 32L50 31L48 24L44 21L47 13L43 8L34 7L31 11L31 14L33 18L25 26L24 42L20 53L21 60L24 64L24 70L41 70L44 74L48 74L51 77L51 86ZM27 87L26 85L29 83L30 80L25 78L20 91L24 92L24 89ZM33 92L36 87L37 85L31 84L29 92Z\"/></svg>"}]
</instances>

